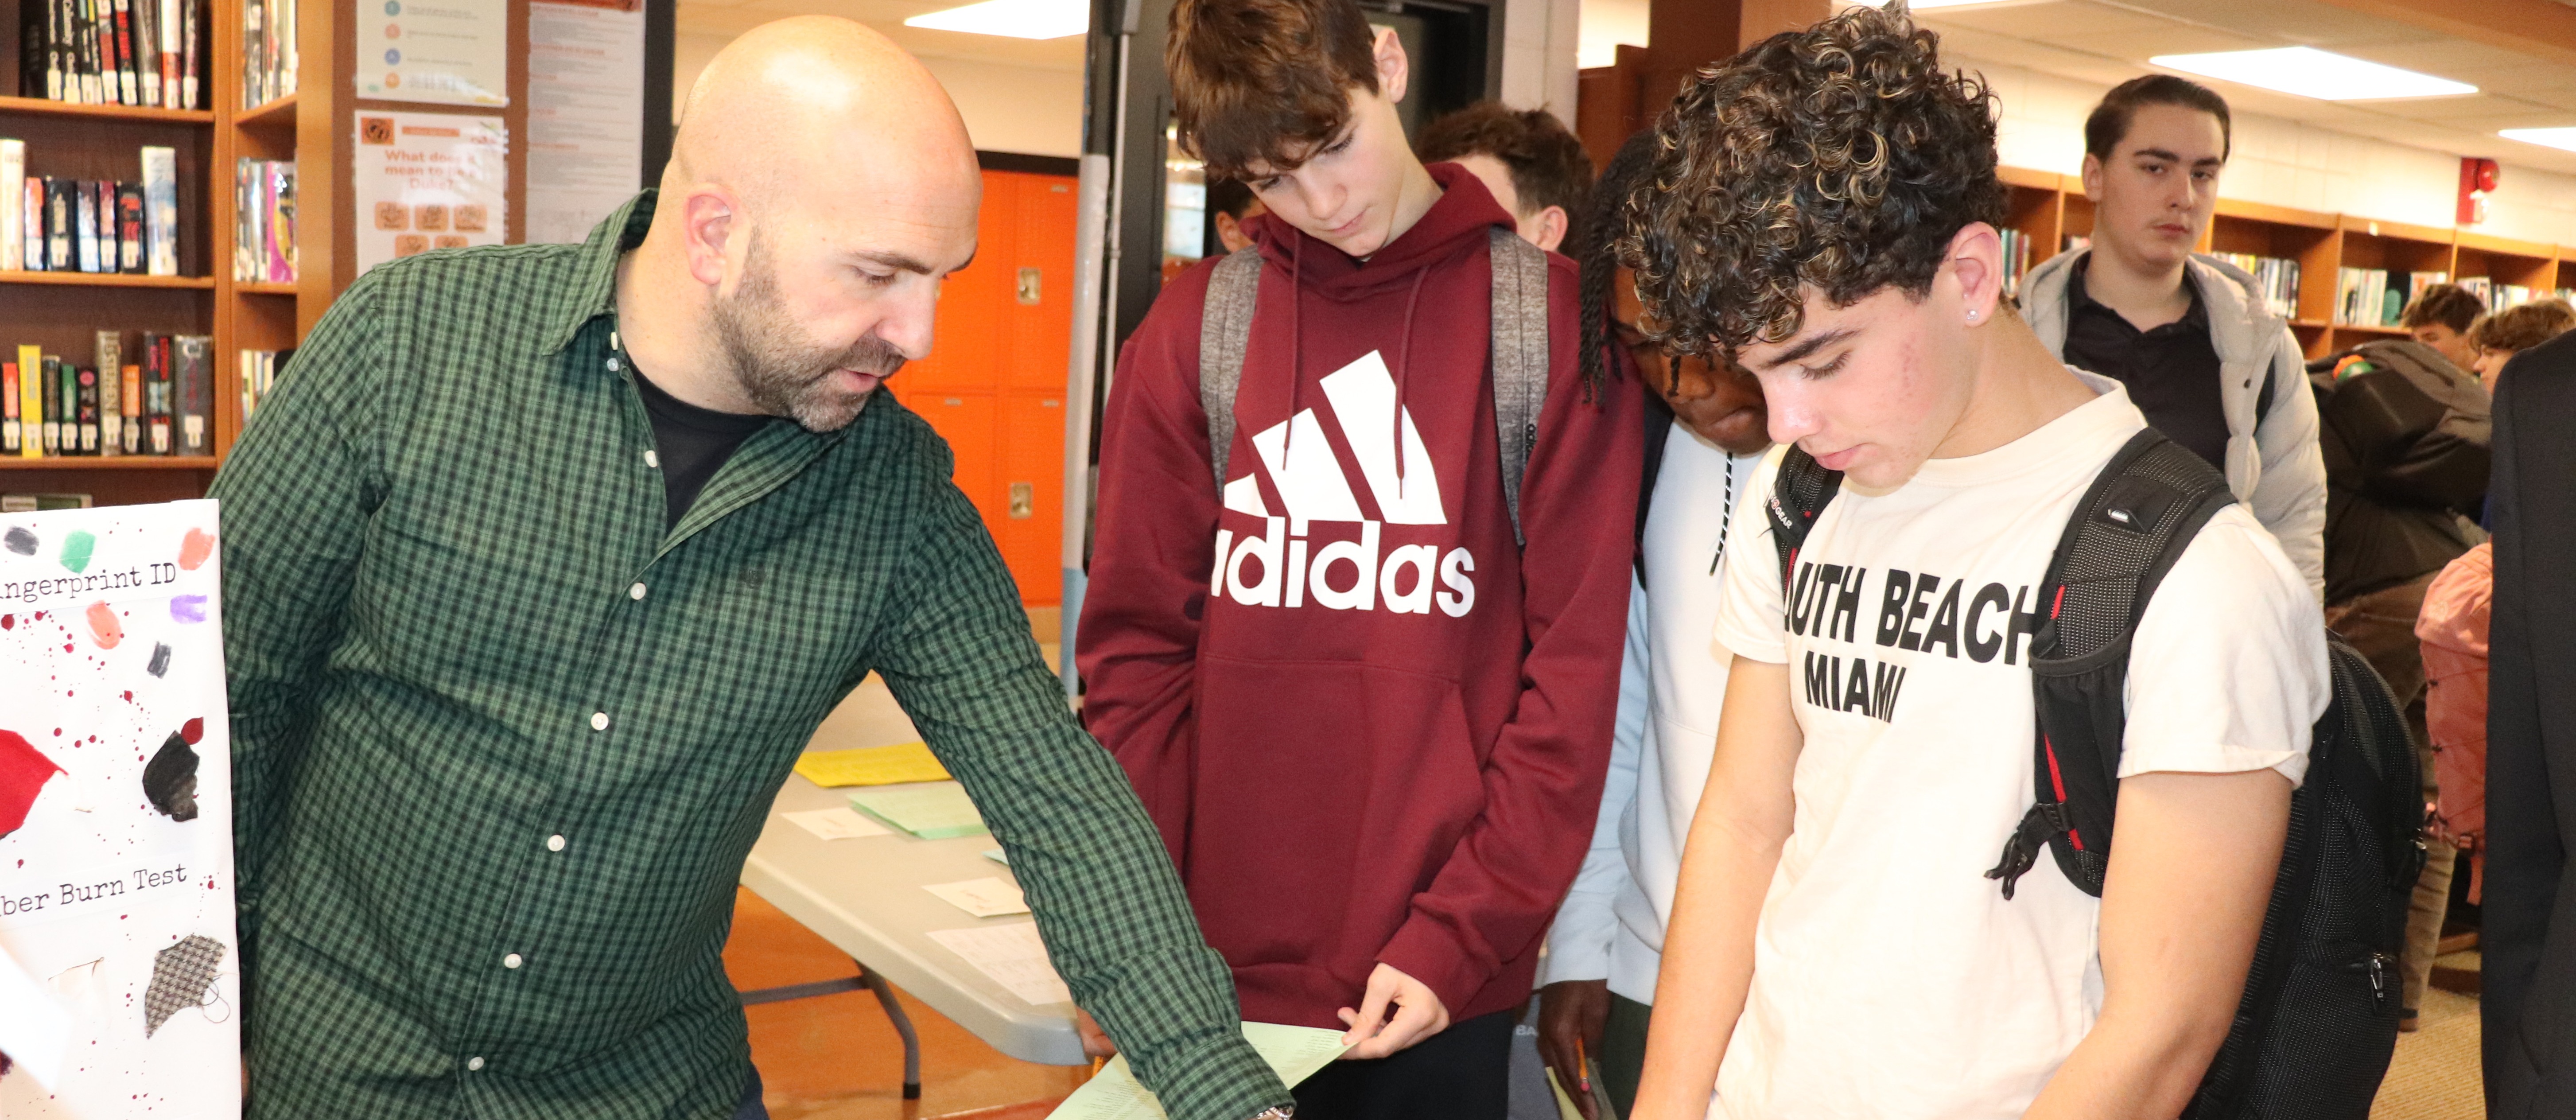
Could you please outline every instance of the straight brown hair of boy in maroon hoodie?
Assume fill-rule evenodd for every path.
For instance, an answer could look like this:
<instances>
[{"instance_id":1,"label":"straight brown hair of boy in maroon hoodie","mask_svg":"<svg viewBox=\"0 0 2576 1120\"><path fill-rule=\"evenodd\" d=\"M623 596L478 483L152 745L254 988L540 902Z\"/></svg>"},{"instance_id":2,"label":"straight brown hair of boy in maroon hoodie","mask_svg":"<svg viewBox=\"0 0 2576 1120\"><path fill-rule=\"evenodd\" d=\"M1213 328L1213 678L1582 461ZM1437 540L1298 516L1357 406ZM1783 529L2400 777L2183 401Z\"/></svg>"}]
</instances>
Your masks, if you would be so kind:
<instances>
[{"instance_id":1,"label":"straight brown hair of boy in maroon hoodie","mask_svg":"<svg viewBox=\"0 0 2576 1120\"><path fill-rule=\"evenodd\" d=\"M1180 147L1211 178L1296 170L1350 124L1350 88L1378 93L1352 0L1180 0L1162 62Z\"/></svg>"}]
</instances>

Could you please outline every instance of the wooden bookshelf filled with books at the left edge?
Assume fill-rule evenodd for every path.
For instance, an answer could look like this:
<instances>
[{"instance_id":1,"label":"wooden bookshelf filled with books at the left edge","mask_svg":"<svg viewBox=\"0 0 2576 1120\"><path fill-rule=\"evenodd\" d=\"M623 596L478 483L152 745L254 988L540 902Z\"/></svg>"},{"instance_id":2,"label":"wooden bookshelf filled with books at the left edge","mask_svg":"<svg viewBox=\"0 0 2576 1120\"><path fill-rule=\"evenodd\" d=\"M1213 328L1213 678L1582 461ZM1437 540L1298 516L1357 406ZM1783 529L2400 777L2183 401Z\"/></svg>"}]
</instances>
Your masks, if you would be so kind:
<instances>
[{"instance_id":1,"label":"wooden bookshelf filled with books at the left edge","mask_svg":"<svg viewBox=\"0 0 2576 1120\"><path fill-rule=\"evenodd\" d=\"M44 0L0 0L0 90L18 90L18 13ZM137 149L178 149L180 275L0 273L0 350L21 342L88 363L98 330L211 335L214 456L46 456L0 458L5 492L85 492L98 505L201 497L242 430L240 350L296 345L330 299L335 214L304 206L304 183L327 183L332 147L307 147L309 129L348 108L345 70L335 51L345 5L296 5L296 95L242 106L242 0L206 0L209 54L201 75L206 108L72 106L0 95L0 136L23 139L28 173L139 180ZM314 152L307 157L307 152ZM234 160L296 160L296 283L232 278ZM330 193L325 191L325 198ZM312 263L325 263L312 283ZM307 306L309 304L309 306Z\"/></svg>"}]
</instances>

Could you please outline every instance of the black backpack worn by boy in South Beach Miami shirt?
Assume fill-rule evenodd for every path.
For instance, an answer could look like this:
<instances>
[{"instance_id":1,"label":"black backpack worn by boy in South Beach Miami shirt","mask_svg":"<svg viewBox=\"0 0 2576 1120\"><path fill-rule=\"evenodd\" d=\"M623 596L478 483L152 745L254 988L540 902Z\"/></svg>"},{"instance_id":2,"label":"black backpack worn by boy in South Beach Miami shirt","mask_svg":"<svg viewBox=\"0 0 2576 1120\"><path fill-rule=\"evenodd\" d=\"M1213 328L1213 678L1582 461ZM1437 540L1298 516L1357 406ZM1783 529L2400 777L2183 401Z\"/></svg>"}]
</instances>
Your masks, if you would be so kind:
<instances>
[{"instance_id":1,"label":"black backpack worn by boy in South Beach Miami shirt","mask_svg":"<svg viewBox=\"0 0 2576 1120\"><path fill-rule=\"evenodd\" d=\"M1839 471L1788 448L1767 502L1783 584L1839 487ZM2084 893L2102 896L2128 726L2128 641L2182 548L2233 499L2208 461L2148 427L2076 505L2038 587L2048 610L2030 633L2030 682L2043 801L1986 873L2002 881L2004 899L2040 847ZM2334 700L2316 721L2308 778L2290 796L2290 837L2254 968L2187 1120L2367 1120L2396 1050L2398 947L2424 870L2416 754L2370 662L2334 631L2326 657Z\"/></svg>"}]
</instances>

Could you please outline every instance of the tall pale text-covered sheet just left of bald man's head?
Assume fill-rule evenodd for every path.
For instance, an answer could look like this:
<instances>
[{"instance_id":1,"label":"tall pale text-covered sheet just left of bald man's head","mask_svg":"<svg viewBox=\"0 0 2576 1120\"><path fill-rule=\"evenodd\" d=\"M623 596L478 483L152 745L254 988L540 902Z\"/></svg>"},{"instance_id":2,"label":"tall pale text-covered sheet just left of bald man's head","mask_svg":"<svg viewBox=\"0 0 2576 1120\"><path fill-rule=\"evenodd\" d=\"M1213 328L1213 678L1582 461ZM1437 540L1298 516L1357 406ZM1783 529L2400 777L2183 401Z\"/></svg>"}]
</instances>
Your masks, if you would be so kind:
<instances>
[{"instance_id":1,"label":"tall pale text-covered sheet just left of bald man's head","mask_svg":"<svg viewBox=\"0 0 2576 1120\"><path fill-rule=\"evenodd\" d=\"M580 242L644 183L644 0L528 5L528 239Z\"/></svg>"}]
</instances>

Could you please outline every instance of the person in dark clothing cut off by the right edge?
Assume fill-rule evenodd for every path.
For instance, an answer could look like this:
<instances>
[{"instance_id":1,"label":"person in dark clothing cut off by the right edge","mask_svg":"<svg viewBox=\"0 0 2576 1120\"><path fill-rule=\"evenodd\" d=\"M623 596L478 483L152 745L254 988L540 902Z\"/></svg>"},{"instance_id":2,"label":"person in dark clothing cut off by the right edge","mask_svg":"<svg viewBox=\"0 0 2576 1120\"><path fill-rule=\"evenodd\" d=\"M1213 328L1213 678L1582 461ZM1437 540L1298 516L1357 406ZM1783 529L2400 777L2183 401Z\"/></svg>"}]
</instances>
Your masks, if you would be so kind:
<instances>
[{"instance_id":1,"label":"person in dark clothing cut off by the right edge","mask_svg":"<svg viewBox=\"0 0 2576 1120\"><path fill-rule=\"evenodd\" d=\"M2576 940L2561 899L2576 829L2576 335L2496 378L2496 597L2486 693L2478 996L2486 1115L2576 1120Z\"/></svg>"}]
</instances>

